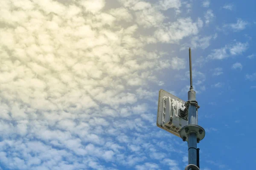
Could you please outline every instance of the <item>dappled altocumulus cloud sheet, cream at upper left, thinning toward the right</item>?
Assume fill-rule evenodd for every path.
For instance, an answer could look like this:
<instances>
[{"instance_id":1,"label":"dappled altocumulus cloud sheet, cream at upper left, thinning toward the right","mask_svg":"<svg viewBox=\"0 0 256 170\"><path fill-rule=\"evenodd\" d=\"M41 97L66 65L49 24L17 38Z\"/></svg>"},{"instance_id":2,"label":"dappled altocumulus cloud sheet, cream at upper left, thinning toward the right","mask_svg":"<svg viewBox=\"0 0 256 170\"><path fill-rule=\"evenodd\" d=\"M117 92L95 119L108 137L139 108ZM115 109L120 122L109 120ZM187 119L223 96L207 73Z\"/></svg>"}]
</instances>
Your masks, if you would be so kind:
<instances>
[{"instance_id":1,"label":"dappled altocumulus cloud sheet, cream at upper left, thinning toward the right","mask_svg":"<svg viewBox=\"0 0 256 170\"><path fill-rule=\"evenodd\" d=\"M186 144L155 122L165 84L158 76L168 70L184 72L180 81L188 77L186 59L174 50L205 49L217 37L198 35L214 18L212 10L192 19L191 6L180 0L1 0L1 168L183 169ZM182 42L189 36L191 42ZM247 48L236 45L240 51L216 49L207 59ZM194 73L200 94L205 75Z\"/></svg>"}]
</instances>

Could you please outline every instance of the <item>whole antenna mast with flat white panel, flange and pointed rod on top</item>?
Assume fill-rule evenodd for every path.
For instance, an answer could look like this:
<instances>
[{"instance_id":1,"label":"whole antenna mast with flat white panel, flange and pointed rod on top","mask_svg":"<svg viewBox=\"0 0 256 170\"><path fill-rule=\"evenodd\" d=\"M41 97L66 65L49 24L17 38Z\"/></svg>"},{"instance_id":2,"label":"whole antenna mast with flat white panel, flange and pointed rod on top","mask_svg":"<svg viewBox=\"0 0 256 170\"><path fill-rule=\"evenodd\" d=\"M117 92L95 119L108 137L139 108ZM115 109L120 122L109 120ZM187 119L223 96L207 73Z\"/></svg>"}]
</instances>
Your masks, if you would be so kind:
<instances>
[{"instance_id":1,"label":"whole antenna mast with flat white panel, flange and pointed rod on top","mask_svg":"<svg viewBox=\"0 0 256 170\"><path fill-rule=\"evenodd\" d=\"M205 136L205 130L198 125L198 102L192 85L191 48L189 48L190 88L188 101L164 91L159 91L157 108L157 126L179 136L183 142L188 142L188 162L185 170L199 169L199 143Z\"/></svg>"}]
</instances>

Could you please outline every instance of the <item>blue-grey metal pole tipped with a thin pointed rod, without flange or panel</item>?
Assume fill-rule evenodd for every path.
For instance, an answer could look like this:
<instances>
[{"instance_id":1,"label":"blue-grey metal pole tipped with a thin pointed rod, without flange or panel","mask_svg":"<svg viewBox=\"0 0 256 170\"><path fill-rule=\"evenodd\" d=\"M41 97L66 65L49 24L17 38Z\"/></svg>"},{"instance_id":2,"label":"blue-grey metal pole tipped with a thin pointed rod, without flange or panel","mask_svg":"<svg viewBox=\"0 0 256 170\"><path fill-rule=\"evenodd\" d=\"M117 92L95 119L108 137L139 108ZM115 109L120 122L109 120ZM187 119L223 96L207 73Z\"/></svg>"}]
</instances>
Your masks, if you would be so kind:
<instances>
[{"instance_id":1,"label":"blue-grey metal pole tipped with a thin pointed rod, without flange or panel","mask_svg":"<svg viewBox=\"0 0 256 170\"><path fill-rule=\"evenodd\" d=\"M192 64L191 64L191 49L189 48L189 68L190 68L190 90L188 92L188 99L195 101L195 91L192 86ZM188 124L197 125L197 108L195 105L188 104ZM189 164L197 164L197 136L195 133L189 133L188 151L189 151Z\"/></svg>"}]
</instances>

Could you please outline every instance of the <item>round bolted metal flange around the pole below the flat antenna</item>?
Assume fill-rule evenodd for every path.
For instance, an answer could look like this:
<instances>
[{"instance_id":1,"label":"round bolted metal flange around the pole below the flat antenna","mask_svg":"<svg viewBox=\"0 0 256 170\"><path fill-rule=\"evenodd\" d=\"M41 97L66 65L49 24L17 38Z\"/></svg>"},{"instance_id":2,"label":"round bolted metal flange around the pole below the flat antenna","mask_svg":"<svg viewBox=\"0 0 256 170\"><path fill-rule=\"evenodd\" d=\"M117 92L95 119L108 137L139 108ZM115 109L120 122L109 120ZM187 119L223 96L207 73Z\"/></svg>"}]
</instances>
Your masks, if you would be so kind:
<instances>
[{"instance_id":1,"label":"round bolted metal flange around the pole below the flat antenna","mask_svg":"<svg viewBox=\"0 0 256 170\"><path fill-rule=\"evenodd\" d=\"M205 131L204 128L199 125L186 125L180 129L180 137L183 141L189 141L189 133L195 133L197 142L199 143L204 139Z\"/></svg>"}]
</instances>

